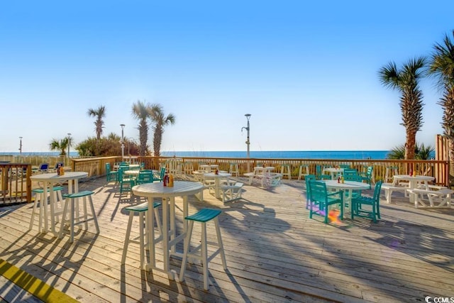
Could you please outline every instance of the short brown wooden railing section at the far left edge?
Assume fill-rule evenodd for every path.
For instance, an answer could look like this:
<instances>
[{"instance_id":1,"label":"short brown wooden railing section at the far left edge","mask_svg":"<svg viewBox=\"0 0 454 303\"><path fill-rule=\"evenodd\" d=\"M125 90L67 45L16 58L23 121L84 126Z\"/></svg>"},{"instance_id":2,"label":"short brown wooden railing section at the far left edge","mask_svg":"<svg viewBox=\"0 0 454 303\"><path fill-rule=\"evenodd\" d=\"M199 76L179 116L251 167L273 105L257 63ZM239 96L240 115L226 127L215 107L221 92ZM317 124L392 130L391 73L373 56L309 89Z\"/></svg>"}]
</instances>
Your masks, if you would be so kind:
<instances>
[{"instance_id":1,"label":"short brown wooden railing section at the far left edge","mask_svg":"<svg viewBox=\"0 0 454 303\"><path fill-rule=\"evenodd\" d=\"M31 202L31 165L0 162L0 170L0 206Z\"/></svg>"}]
</instances>

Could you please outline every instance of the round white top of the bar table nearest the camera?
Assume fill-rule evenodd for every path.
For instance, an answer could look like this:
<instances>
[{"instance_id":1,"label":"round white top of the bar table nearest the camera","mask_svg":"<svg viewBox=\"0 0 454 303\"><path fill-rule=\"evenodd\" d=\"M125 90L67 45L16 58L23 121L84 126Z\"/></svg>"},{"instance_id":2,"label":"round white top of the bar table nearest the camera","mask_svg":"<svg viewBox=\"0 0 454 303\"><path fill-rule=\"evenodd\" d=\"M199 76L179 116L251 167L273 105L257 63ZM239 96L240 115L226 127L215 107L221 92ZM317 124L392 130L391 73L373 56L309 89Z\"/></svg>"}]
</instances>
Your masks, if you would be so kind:
<instances>
[{"instance_id":1,"label":"round white top of the bar table nearest the camera","mask_svg":"<svg viewBox=\"0 0 454 303\"><path fill-rule=\"evenodd\" d=\"M164 186L164 182L135 185L133 194L140 197L181 197L196 194L204 189L200 182L175 181L173 187Z\"/></svg>"}]
</instances>

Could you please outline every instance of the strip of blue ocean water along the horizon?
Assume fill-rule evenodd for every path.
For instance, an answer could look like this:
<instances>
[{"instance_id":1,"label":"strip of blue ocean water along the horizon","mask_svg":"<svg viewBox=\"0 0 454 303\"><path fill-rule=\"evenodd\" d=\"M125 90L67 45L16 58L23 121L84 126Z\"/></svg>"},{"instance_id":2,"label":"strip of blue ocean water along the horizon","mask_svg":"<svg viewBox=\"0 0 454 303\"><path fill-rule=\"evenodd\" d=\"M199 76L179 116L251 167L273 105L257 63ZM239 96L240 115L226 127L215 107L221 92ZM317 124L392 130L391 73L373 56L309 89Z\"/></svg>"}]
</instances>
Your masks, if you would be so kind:
<instances>
[{"instance_id":1,"label":"strip of blue ocean water along the horizon","mask_svg":"<svg viewBox=\"0 0 454 303\"><path fill-rule=\"evenodd\" d=\"M284 151L251 151L250 158L260 159L376 159L382 160L387 158L389 150L284 150ZM0 153L0 155L19 155L19 153ZM35 152L22 153L23 156L40 155L40 156L57 156L58 152ZM71 157L77 157L77 152L71 152ZM201 157L201 158L246 158L246 152L243 151L175 151L162 152L165 157Z\"/></svg>"}]
</instances>

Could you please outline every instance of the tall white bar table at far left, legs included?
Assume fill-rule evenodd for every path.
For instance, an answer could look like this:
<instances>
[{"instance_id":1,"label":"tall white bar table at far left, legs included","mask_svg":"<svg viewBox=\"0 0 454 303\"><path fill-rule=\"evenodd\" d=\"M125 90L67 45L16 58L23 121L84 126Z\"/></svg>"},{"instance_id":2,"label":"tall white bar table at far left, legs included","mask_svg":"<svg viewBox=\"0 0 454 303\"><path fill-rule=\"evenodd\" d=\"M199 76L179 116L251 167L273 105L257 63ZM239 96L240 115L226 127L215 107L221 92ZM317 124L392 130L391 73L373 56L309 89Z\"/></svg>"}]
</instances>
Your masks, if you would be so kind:
<instances>
[{"instance_id":1,"label":"tall white bar table at far left, legs included","mask_svg":"<svg viewBox=\"0 0 454 303\"><path fill-rule=\"evenodd\" d=\"M88 177L88 172L65 172L65 175L57 175L56 172L51 172L48 174L39 174L33 175L30 177L32 181L43 182L43 191L44 194L47 194L49 188L50 194L50 231L56 237L58 233L55 231L55 198L54 198L54 186L56 183L68 182L68 194L73 192L79 192L79 179ZM73 183L74 182L74 187ZM45 203L45 202L43 202ZM48 231L48 212L47 206L44 207L44 231Z\"/></svg>"}]
</instances>

